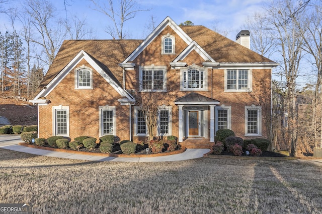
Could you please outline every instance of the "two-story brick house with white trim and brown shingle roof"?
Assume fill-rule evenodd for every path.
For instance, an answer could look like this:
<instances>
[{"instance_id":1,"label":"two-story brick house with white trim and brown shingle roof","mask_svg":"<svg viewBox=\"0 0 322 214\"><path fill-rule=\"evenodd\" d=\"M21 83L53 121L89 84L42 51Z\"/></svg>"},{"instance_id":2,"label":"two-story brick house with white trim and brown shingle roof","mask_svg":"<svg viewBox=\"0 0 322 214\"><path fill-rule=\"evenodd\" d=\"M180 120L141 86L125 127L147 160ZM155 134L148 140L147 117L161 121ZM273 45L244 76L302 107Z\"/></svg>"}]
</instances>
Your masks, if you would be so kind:
<instances>
[{"instance_id":1,"label":"two-story brick house with white trim and brown shingle roof","mask_svg":"<svg viewBox=\"0 0 322 214\"><path fill-rule=\"evenodd\" d=\"M234 42L169 17L145 40L64 41L32 100L39 137L113 134L135 141L148 133L133 93L172 92L160 104L157 136L213 142L216 130L228 128L242 138L266 138L252 93L256 83L270 85L277 64L249 42L248 31Z\"/></svg>"}]
</instances>

